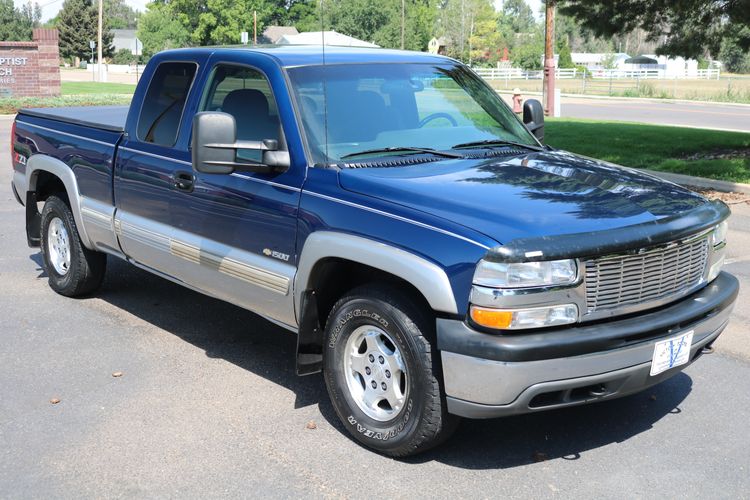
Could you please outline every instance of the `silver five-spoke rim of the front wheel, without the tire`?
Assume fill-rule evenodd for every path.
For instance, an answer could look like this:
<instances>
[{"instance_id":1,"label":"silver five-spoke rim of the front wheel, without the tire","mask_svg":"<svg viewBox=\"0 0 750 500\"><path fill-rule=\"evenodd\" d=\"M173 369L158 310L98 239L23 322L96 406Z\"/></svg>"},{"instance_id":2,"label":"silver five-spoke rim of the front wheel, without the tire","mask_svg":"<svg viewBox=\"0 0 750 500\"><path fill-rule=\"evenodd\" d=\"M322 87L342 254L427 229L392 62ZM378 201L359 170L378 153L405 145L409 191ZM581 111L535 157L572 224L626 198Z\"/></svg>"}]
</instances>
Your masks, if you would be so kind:
<instances>
[{"instance_id":1,"label":"silver five-spoke rim of the front wheel, without the tire","mask_svg":"<svg viewBox=\"0 0 750 500\"><path fill-rule=\"evenodd\" d=\"M409 380L391 337L377 326L360 326L346 342L343 361L349 394L365 415L380 422L395 418Z\"/></svg>"}]
</instances>

